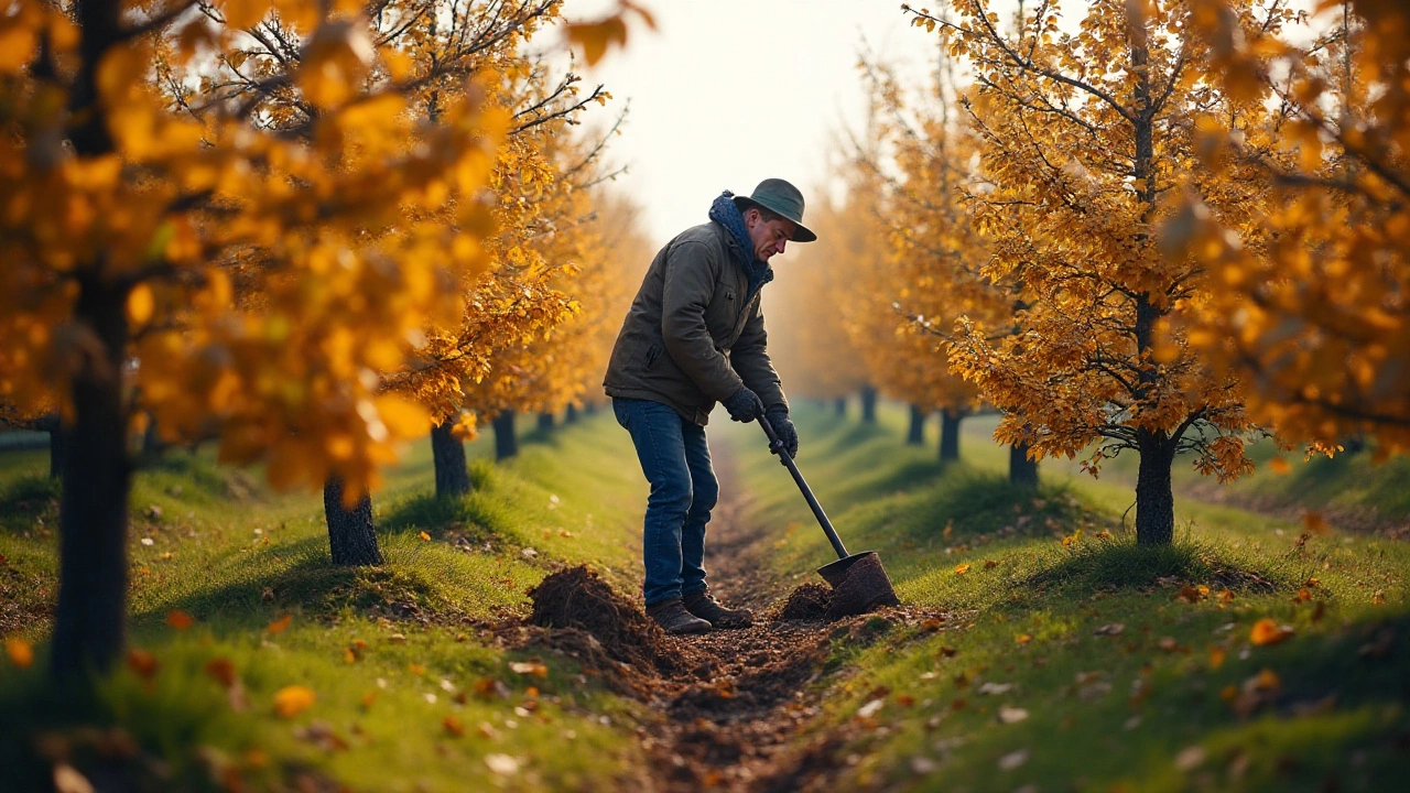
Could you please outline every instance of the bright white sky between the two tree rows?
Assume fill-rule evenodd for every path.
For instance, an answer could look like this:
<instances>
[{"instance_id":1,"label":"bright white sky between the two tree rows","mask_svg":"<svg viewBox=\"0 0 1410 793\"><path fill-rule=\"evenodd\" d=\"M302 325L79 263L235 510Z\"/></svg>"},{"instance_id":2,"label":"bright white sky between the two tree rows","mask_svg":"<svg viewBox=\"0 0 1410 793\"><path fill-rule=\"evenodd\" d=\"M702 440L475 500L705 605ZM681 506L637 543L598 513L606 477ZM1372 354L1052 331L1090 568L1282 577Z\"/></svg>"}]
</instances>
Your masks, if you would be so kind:
<instances>
[{"instance_id":1,"label":"bright white sky between the two tree rows","mask_svg":"<svg viewBox=\"0 0 1410 793\"><path fill-rule=\"evenodd\" d=\"M564 16L599 18L613 6L568 0ZM606 83L615 97L608 109L630 100L612 151L629 168L619 183L646 207L657 244L704 223L721 190L749 195L768 176L819 205L839 130L860 128L864 119L856 69L863 40L916 79L936 68L938 38L909 27L901 0L644 6L657 30L633 25L626 49L582 71L585 82Z\"/></svg>"}]
</instances>

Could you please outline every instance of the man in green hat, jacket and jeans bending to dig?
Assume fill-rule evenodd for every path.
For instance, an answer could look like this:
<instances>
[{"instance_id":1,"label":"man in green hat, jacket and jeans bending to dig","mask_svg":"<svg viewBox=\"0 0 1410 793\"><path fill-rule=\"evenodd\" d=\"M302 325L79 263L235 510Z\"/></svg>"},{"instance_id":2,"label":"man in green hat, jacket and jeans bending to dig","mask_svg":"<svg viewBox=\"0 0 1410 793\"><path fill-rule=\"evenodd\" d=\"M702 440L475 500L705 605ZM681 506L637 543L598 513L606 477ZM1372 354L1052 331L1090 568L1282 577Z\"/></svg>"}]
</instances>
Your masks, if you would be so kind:
<instances>
[{"instance_id":1,"label":"man in green hat, jacket and jeans bending to dig","mask_svg":"<svg viewBox=\"0 0 1410 793\"><path fill-rule=\"evenodd\" d=\"M802 193L783 179L764 179L747 198L725 190L709 223L656 254L612 349L603 385L651 483L646 612L668 634L753 619L749 610L721 605L705 584L705 523L719 497L705 423L721 402L736 422L764 415L787 453L798 450L759 292L774 278L770 257L790 241L818 238L802 209Z\"/></svg>"}]
</instances>

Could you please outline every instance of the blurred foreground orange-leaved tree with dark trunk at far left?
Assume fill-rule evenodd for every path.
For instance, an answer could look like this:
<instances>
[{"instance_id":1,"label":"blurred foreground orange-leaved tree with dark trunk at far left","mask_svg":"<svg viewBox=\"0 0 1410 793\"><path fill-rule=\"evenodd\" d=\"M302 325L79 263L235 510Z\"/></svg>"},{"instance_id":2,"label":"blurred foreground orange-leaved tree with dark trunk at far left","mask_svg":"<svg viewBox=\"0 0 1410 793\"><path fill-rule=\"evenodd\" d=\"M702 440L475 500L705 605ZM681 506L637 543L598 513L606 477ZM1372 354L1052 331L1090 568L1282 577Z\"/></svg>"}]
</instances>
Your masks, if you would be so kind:
<instances>
[{"instance_id":1,"label":"blurred foreground orange-leaved tree with dark trunk at far left","mask_svg":"<svg viewBox=\"0 0 1410 793\"><path fill-rule=\"evenodd\" d=\"M161 41L178 40L173 56L230 48L266 6L230 3L217 23L190 3L18 1L3 23L0 388L68 418L52 649L66 680L110 667L124 642L138 416L169 439L216 426L221 460L265 460L281 487L368 487L427 426L376 373L427 323L454 322L446 286L486 265L478 196L506 114L467 83L424 126L406 83L372 79L388 54L360 7L281 7L310 31L278 80L316 109L293 134L219 92L172 111L154 86ZM448 195L467 199L455 226L407 219ZM259 299L237 303L247 277Z\"/></svg>"}]
</instances>

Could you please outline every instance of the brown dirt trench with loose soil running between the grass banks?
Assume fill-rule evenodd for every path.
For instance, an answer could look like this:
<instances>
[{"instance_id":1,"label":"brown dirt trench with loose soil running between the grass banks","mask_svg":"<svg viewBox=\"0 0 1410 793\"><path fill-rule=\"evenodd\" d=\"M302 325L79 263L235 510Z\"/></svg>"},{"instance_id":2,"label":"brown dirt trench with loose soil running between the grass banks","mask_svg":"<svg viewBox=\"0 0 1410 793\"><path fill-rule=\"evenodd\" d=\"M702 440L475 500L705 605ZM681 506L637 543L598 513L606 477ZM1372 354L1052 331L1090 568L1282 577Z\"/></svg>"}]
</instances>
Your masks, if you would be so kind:
<instances>
[{"instance_id":1,"label":"brown dirt trench with loose soil running between the grass banks","mask_svg":"<svg viewBox=\"0 0 1410 793\"><path fill-rule=\"evenodd\" d=\"M777 538L742 519L749 494L729 449L716 444L715 461L722 500L706 538L711 591L753 608L753 626L667 636L637 603L575 567L530 593L530 621L540 631L534 643L580 659L608 687L649 706L656 718L637 735L650 768L634 786L663 793L821 789L840 768L836 749L850 731L808 731L821 714L811 683L823 674L830 643L876 641L890 625L931 615L902 607L829 622L830 590L821 579L785 591L761 563ZM876 617L885 622L878 626ZM804 739L805 731L812 734Z\"/></svg>"}]
</instances>

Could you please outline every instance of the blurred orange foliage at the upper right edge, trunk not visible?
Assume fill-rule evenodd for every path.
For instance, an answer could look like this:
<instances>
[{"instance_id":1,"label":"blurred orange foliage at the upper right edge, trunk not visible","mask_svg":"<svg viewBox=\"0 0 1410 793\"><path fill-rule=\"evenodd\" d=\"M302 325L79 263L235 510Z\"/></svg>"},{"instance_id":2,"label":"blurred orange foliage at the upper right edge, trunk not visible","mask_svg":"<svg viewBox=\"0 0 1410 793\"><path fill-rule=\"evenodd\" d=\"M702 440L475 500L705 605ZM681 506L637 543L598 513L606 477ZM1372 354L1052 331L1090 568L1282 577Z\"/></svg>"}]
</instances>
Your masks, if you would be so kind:
<instances>
[{"instance_id":1,"label":"blurred orange foliage at the upper right edge, trunk not visible","mask_svg":"<svg viewBox=\"0 0 1410 793\"><path fill-rule=\"evenodd\" d=\"M1189 196L1163 227L1221 285L1189 344L1238 377L1249 411L1290 442L1410 449L1410 11L1321 1L1294 44L1237 4L1191 0L1231 96L1280 109L1276 134L1203 127L1217 172L1253 167L1265 210L1231 222ZM1238 222L1241 220L1241 222Z\"/></svg>"}]
</instances>

